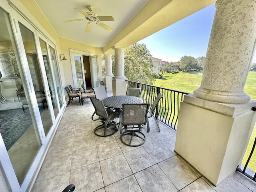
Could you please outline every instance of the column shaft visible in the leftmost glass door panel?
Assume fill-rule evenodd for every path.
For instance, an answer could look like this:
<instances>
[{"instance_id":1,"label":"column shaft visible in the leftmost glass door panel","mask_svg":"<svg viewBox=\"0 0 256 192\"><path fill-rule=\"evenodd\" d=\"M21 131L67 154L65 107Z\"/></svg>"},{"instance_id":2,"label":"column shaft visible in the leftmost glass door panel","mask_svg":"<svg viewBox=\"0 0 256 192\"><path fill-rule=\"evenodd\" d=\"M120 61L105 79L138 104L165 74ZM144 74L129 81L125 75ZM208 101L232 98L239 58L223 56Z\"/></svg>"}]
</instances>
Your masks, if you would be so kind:
<instances>
[{"instance_id":1,"label":"column shaft visible in the leftmost glass door panel","mask_svg":"<svg viewBox=\"0 0 256 192\"><path fill-rule=\"evenodd\" d=\"M17 79L12 66L12 61L8 54L8 49L2 46L0 46L0 71L2 74L1 80Z\"/></svg>"}]
</instances>

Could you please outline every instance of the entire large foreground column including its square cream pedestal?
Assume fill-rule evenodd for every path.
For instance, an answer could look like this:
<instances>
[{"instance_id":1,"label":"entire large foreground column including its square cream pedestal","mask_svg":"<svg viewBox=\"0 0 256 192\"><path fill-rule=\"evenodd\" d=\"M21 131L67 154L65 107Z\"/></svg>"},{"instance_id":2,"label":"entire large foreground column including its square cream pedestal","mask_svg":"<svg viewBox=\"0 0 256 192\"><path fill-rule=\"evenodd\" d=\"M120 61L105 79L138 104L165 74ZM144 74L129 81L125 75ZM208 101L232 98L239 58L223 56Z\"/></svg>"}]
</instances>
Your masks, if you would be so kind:
<instances>
[{"instance_id":1,"label":"entire large foreground column including its square cream pedestal","mask_svg":"<svg viewBox=\"0 0 256 192\"><path fill-rule=\"evenodd\" d=\"M256 43L256 0L218 0L200 88L180 105L175 151L212 184L241 165L256 101L244 93Z\"/></svg>"}]
</instances>

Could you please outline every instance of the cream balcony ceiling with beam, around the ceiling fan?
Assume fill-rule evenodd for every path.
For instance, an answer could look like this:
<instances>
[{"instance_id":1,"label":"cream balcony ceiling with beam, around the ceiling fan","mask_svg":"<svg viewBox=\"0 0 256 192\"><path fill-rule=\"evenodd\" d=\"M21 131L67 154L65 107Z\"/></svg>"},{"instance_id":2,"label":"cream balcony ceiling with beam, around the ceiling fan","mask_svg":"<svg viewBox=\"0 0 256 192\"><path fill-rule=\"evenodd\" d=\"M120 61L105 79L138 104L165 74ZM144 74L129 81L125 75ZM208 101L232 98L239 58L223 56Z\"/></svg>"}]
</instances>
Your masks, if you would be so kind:
<instances>
[{"instance_id":1,"label":"cream balcony ceiling with beam, around the ceiling fan","mask_svg":"<svg viewBox=\"0 0 256 192\"><path fill-rule=\"evenodd\" d=\"M216 0L35 0L50 24L62 38L81 42L93 47L103 48L104 52L112 46L129 46L147 36L193 14L214 3ZM98 16L112 16L114 21L102 21L112 32L92 24L90 32L85 32L88 20L75 10L88 12L92 5Z\"/></svg>"}]
</instances>

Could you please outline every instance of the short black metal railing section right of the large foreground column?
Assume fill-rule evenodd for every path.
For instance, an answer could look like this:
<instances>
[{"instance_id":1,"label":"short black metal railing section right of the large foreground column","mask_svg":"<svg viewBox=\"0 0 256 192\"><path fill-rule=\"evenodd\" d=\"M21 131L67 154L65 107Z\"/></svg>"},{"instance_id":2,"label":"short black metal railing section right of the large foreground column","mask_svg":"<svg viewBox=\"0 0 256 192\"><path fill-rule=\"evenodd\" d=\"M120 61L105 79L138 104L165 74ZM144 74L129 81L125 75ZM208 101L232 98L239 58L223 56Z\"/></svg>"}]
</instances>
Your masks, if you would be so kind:
<instances>
[{"instance_id":1,"label":"short black metal railing section right of the large foreground column","mask_svg":"<svg viewBox=\"0 0 256 192\"><path fill-rule=\"evenodd\" d=\"M252 110L253 110L253 111L256 111L256 106L252 107ZM256 137L255 137L255 139L254 139L254 143L253 143L253 146L252 146L252 150L251 150L250 155L248 156L248 158L247 158L247 160L246 160L245 165L241 165L240 167L237 166L236 170L256 182L256 170L251 170L250 168L248 168L248 164L249 164L250 162L252 162L252 159L251 159L251 158L252 158L252 156L253 156L255 146L256 146ZM254 155L255 155L255 154L254 154Z\"/></svg>"}]
</instances>

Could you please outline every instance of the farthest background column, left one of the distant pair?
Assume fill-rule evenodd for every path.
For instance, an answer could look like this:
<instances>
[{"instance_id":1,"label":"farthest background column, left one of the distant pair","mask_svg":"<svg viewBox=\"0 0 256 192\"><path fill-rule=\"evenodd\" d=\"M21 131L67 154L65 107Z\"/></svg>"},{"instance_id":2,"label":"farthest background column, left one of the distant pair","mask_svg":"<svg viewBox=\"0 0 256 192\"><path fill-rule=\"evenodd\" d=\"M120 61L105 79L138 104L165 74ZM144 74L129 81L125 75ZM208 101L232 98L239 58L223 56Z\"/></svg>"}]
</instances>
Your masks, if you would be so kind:
<instances>
[{"instance_id":1,"label":"farthest background column, left one of the distant pair","mask_svg":"<svg viewBox=\"0 0 256 192\"><path fill-rule=\"evenodd\" d=\"M107 92L112 92L112 79L114 77L113 75L113 70L112 70L112 54L106 54L104 53L105 56L105 67L106 67L106 74L105 74L105 79L106 79L106 88Z\"/></svg>"}]
</instances>

